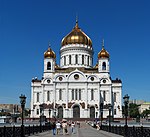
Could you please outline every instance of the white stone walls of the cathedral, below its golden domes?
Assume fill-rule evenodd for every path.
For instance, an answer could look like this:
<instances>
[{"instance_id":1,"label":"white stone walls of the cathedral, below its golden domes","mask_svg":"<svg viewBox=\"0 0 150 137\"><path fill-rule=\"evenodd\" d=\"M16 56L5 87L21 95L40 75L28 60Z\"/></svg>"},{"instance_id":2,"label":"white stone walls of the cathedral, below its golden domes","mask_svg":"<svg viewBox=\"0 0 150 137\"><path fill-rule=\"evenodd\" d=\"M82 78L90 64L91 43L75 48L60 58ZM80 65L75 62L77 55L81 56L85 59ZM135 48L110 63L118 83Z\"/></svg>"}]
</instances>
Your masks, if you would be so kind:
<instances>
[{"instance_id":1,"label":"white stone walls of the cathedral, below its golden domes","mask_svg":"<svg viewBox=\"0 0 150 137\"><path fill-rule=\"evenodd\" d=\"M58 113L56 104L62 105L66 104L66 108L63 106L63 116L64 118L73 117L73 106L68 108L68 103L75 103L80 106L80 118L89 118L90 117L90 107L95 107L95 116L96 112L99 116L99 104L101 99L103 99L103 91L106 92L106 100L104 105L109 103L113 104L113 94L116 93L117 98L114 102L114 109L116 109L116 115L114 117L122 117L122 108L121 108L121 92L122 84L121 83L112 83L110 80L109 73L109 60L102 59L99 60L99 69L97 72L81 72L78 70L78 67L84 68L93 68L92 67L92 56L93 49L92 47L87 47L86 45L81 44L72 44L66 45L61 48L61 57L60 57L60 67L68 68L74 67L76 70L73 72L65 73L56 73L54 66L55 60L53 59L44 59L44 79L41 82L32 82L31 84L31 117L39 118L40 114L37 114L37 109L39 105L45 103L47 105L54 103L54 108L51 112L51 117ZM71 64L69 64L69 55L71 55ZM75 64L75 55L78 55L78 64ZM82 55L84 55L84 64L82 64ZM64 65L64 57L66 57L66 65ZM89 57L89 65L88 65ZM52 70L47 70L47 62L52 63ZM106 62L106 70L102 70L102 62ZM78 74L79 79L75 79L74 75ZM59 80L59 76L63 77L63 80ZM91 77L94 77L94 81L91 81ZM47 80L50 80L50 83L47 83ZM103 82L106 80L106 83ZM59 100L59 90L62 89L62 100ZM81 100L72 100L72 89L81 89ZM91 89L94 92L94 99L91 100ZM47 101L47 92L50 91L50 101ZM37 102L37 93L39 93L39 102ZM75 96L75 95L74 95ZM80 103L85 103L85 108L82 108ZM120 106L120 110L118 109ZM48 108L45 109L44 114L46 117L49 116ZM103 110L103 116L106 118L108 116L108 109Z\"/></svg>"}]
</instances>

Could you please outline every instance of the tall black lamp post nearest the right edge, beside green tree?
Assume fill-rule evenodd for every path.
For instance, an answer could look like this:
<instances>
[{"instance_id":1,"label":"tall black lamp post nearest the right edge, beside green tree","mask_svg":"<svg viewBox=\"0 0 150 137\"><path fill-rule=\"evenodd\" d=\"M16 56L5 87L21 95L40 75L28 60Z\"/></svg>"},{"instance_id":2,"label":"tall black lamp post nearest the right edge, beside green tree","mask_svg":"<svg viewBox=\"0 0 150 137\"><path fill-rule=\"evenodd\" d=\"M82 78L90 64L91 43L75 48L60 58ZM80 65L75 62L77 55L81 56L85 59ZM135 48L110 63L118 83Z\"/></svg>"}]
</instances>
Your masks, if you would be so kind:
<instances>
[{"instance_id":1,"label":"tall black lamp post nearest the right edge, beside green tree","mask_svg":"<svg viewBox=\"0 0 150 137\"><path fill-rule=\"evenodd\" d=\"M124 105L125 105L125 110L124 110L124 114L125 114L125 137L127 137L127 130L128 130L128 125L127 125L127 117L128 117L128 104L129 104L129 96L128 94L126 94L124 97Z\"/></svg>"}]
</instances>

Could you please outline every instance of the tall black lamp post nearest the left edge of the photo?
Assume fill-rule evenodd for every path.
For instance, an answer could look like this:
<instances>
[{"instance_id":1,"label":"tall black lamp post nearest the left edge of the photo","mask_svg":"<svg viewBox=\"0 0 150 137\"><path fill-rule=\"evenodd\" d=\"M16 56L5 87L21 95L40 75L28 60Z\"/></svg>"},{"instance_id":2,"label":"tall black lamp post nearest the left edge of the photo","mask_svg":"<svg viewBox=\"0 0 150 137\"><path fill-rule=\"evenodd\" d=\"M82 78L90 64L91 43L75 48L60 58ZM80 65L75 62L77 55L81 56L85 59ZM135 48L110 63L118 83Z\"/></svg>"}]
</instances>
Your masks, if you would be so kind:
<instances>
[{"instance_id":1,"label":"tall black lamp post nearest the left edge of the photo","mask_svg":"<svg viewBox=\"0 0 150 137\"><path fill-rule=\"evenodd\" d=\"M26 104L26 96L22 95L19 97L20 98L20 104L21 104L21 109L22 109L22 125L21 125L21 137L24 137L24 124L23 124L23 112L24 112L24 108L25 108L25 104Z\"/></svg>"}]
</instances>

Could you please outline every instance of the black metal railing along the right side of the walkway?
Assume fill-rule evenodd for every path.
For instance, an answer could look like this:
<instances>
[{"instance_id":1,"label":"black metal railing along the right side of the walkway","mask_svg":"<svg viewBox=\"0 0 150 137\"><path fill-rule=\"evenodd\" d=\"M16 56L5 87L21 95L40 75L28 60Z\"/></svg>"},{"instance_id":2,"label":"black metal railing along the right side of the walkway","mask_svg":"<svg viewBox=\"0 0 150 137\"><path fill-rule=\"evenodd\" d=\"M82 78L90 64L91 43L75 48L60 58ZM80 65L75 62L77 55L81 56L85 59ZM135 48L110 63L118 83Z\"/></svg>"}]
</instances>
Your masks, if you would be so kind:
<instances>
[{"instance_id":1,"label":"black metal railing along the right side of the walkway","mask_svg":"<svg viewBox=\"0 0 150 137\"><path fill-rule=\"evenodd\" d=\"M109 126L103 125L102 130L109 132ZM150 137L150 128L147 127L125 127L125 126L111 126L110 132L124 137Z\"/></svg>"}]
</instances>

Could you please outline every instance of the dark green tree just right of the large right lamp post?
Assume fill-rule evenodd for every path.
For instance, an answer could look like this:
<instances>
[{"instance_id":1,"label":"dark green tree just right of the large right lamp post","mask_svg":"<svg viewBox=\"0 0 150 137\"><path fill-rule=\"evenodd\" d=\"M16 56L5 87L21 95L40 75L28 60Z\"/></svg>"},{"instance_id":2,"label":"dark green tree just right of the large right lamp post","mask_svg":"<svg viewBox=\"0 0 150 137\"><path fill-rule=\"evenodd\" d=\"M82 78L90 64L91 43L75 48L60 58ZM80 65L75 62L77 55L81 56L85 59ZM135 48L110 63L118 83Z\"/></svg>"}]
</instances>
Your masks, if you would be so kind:
<instances>
[{"instance_id":1,"label":"dark green tree just right of the large right lamp post","mask_svg":"<svg viewBox=\"0 0 150 137\"><path fill-rule=\"evenodd\" d=\"M134 103L129 104L129 116L131 118L137 118L140 116L139 105L134 104Z\"/></svg>"}]
</instances>

